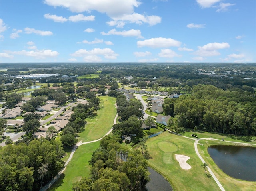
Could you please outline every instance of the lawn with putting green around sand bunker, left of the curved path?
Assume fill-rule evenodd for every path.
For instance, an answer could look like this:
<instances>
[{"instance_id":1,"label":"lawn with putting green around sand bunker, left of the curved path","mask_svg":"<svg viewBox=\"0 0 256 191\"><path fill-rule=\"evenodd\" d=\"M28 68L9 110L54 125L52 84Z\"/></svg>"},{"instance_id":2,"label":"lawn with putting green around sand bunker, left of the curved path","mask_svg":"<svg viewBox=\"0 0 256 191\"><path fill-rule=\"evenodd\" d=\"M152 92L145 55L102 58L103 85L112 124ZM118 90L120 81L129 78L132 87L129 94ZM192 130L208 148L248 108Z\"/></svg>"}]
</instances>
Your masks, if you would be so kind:
<instances>
[{"instance_id":1,"label":"lawn with putting green around sand bunker, left of the curved path","mask_svg":"<svg viewBox=\"0 0 256 191\"><path fill-rule=\"evenodd\" d=\"M175 191L219 190L213 178L205 175L202 162L194 151L194 141L164 132L147 141L150 154L149 165L171 183ZM192 167L184 170L175 159L175 154L184 154Z\"/></svg>"}]
</instances>

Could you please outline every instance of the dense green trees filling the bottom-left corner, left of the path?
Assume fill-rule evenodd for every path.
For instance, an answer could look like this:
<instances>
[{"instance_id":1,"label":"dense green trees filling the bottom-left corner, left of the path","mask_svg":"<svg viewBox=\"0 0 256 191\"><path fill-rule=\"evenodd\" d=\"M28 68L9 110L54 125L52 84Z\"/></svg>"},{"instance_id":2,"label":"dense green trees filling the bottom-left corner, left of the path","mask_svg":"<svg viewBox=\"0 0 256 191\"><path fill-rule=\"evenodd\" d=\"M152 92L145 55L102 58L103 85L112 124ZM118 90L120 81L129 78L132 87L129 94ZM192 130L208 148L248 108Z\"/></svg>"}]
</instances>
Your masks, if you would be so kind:
<instances>
[{"instance_id":1,"label":"dense green trees filling the bottom-left corner, left of the path","mask_svg":"<svg viewBox=\"0 0 256 191\"><path fill-rule=\"evenodd\" d=\"M36 191L64 167L60 141L35 139L0 147L0 189Z\"/></svg>"}]
</instances>

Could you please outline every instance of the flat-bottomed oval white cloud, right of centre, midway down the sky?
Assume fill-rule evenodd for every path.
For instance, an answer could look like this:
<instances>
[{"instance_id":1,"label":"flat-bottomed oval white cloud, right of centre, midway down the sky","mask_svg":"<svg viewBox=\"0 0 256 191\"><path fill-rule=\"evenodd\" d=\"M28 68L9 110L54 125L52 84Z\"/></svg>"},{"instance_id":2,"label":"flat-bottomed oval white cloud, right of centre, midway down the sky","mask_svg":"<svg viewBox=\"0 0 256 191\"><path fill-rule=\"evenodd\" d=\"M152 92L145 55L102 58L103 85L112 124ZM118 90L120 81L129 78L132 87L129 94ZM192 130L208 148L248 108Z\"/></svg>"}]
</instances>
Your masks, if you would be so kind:
<instances>
[{"instance_id":1,"label":"flat-bottomed oval white cloud, right of centre, midway down the sky","mask_svg":"<svg viewBox=\"0 0 256 191\"><path fill-rule=\"evenodd\" d=\"M151 38L144 41L137 41L138 47L151 47L151 48L166 48L170 46L179 47L181 45L180 41L171 38Z\"/></svg>"}]
</instances>

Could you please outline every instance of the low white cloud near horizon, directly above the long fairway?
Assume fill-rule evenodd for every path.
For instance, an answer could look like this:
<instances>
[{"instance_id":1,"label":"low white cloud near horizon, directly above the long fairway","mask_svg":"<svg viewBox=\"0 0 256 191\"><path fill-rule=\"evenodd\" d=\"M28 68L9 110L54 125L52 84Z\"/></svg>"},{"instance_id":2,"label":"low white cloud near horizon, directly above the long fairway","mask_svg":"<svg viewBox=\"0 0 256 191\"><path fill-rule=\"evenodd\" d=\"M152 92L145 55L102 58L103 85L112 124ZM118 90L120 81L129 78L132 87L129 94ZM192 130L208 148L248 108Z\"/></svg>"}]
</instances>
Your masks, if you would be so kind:
<instances>
[{"instance_id":1,"label":"low white cloud near horizon, directly above the long fairway","mask_svg":"<svg viewBox=\"0 0 256 191\"><path fill-rule=\"evenodd\" d=\"M74 56L74 57L85 57L85 56L90 56L90 55L96 55L96 56L103 55L107 59L116 59L116 57L118 56L118 54L115 53L110 48L104 48L104 49L94 48L89 51L86 49L80 49L80 50L76 51L75 53L71 54L71 56Z\"/></svg>"}]
</instances>

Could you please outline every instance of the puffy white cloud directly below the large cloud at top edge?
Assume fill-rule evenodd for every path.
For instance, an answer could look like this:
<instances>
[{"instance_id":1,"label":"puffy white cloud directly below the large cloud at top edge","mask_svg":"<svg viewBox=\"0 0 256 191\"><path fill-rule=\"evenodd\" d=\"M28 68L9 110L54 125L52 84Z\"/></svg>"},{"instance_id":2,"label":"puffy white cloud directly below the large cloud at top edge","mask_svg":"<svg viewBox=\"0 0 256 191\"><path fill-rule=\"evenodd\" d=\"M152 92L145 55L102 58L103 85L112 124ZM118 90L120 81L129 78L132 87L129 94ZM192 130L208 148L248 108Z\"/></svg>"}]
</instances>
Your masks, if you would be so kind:
<instances>
[{"instance_id":1,"label":"puffy white cloud directly below the large cloud at top edge","mask_svg":"<svg viewBox=\"0 0 256 191\"><path fill-rule=\"evenodd\" d=\"M144 16L142 14L133 13L133 14L125 14L122 16L112 18L112 21L106 22L109 26L117 26L122 28L126 22L128 23L136 23L143 24L148 23L150 26L161 23L161 17L159 16Z\"/></svg>"}]
</instances>

